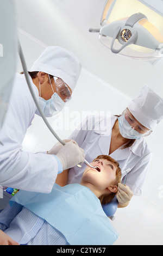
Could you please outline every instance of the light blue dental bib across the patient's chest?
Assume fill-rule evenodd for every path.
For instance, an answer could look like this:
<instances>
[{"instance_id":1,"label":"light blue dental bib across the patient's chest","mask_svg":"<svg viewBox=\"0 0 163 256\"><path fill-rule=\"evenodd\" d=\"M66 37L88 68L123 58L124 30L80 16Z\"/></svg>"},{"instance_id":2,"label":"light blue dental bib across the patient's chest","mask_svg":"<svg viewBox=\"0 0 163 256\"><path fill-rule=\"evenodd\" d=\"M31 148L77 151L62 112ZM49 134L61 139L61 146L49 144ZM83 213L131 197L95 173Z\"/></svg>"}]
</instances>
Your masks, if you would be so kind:
<instances>
[{"instance_id":1,"label":"light blue dental bib across the patient's chest","mask_svg":"<svg viewBox=\"0 0 163 256\"><path fill-rule=\"evenodd\" d=\"M117 240L99 199L85 186L54 184L49 194L19 191L10 205L14 202L58 229L70 245L112 245Z\"/></svg>"}]
</instances>

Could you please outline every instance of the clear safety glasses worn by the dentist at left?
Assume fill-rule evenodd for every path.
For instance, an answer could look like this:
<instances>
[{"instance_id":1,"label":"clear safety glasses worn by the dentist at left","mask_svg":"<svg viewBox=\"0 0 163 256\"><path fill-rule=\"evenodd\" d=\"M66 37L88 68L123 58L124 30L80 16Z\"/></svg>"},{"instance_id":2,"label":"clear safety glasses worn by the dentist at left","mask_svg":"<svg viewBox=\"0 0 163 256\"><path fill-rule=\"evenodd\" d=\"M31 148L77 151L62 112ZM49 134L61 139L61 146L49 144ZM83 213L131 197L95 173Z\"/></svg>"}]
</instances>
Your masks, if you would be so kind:
<instances>
[{"instance_id":1,"label":"clear safety glasses worn by the dentist at left","mask_svg":"<svg viewBox=\"0 0 163 256\"><path fill-rule=\"evenodd\" d=\"M54 76L54 83L56 87L57 94L60 96L62 101L67 102L71 100L71 92L67 84L61 80L59 77Z\"/></svg>"}]
</instances>

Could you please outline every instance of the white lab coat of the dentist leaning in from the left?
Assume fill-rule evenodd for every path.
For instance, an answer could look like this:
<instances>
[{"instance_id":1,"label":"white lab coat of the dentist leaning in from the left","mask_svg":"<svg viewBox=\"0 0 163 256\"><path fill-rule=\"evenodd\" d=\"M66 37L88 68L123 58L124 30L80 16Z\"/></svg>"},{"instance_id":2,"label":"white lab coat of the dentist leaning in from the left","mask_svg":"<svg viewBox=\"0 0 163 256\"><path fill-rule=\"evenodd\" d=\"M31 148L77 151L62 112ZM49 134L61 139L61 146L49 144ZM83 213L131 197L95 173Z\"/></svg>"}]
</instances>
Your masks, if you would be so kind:
<instances>
[{"instance_id":1,"label":"white lab coat of the dentist leaning in from the left","mask_svg":"<svg viewBox=\"0 0 163 256\"><path fill-rule=\"evenodd\" d=\"M30 81L33 84L31 78ZM34 84L33 89L39 98ZM53 155L22 151L22 142L35 111L24 75L16 74L9 109L0 130L0 141L3 143L3 146L0 145L0 185L49 193L58 174L57 159Z\"/></svg>"}]
</instances>

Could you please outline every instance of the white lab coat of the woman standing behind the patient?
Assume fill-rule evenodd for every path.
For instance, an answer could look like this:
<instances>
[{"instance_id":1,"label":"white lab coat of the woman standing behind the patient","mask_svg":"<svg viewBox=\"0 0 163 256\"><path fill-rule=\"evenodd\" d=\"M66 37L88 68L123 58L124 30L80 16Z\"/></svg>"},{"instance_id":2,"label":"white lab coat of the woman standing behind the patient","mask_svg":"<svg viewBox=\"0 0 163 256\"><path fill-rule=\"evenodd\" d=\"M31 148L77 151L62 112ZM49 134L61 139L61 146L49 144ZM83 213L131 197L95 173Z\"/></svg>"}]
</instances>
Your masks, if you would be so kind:
<instances>
[{"instance_id":1,"label":"white lab coat of the woman standing behind the patient","mask_svg":"<svg viewBox=\"0 0 163 256\"><path fill-rule=\"evenodd\" d=\"M105 131L106 120L103 119L101 125L95 123L94 128L98 125L98 130L84 130L86 127L85 121L81 127L72 133L71 138L78 143L79 147L84 149L85 159L88 162L92 162L99 155L109 154L112 127L116 120L117 117L111 117L110 132ZM117 149L110 154L110 157L120 163L122 181L125 176L123 171L128 168L131 169L128 174L127 185L136 196L141 196L142 187L152 159L151 149L149 149L145 139L136 140L130 148ZM68 183L79 183L85 167L85 164L83 164L82 168L77 166L71 168L68 174Z\"/></svg>"}]
</instances>

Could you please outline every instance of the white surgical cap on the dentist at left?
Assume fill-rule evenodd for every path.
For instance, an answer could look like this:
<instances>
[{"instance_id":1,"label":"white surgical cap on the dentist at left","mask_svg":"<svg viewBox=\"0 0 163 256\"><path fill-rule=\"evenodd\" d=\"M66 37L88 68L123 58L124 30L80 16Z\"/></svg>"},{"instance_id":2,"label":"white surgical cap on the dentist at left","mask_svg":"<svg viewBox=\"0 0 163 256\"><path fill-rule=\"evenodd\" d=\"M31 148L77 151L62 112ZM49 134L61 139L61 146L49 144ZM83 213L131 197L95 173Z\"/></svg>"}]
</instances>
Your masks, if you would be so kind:
<instances>
[{"instance_id":1,"label":"white surgical cap on the dentist at left","mask_svg":"<svg viewBox=\"0 0 163 256\"><path fill-rule=\"evenodd\" d=\"M59 77L73 91L81 70L82 65L72 52L59 46L48 46L34 62L30 72L42 71Z\"/></svg>"}]
</instances>

